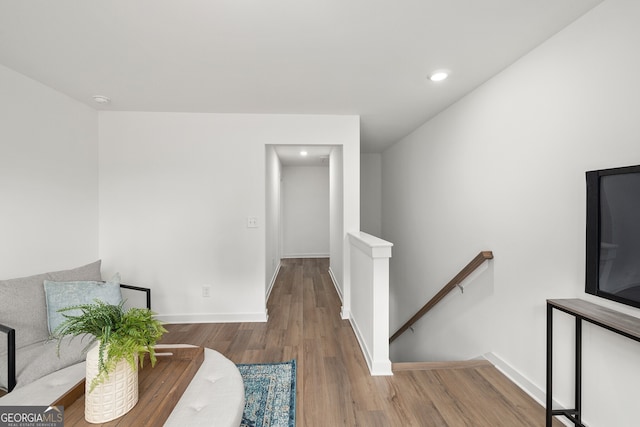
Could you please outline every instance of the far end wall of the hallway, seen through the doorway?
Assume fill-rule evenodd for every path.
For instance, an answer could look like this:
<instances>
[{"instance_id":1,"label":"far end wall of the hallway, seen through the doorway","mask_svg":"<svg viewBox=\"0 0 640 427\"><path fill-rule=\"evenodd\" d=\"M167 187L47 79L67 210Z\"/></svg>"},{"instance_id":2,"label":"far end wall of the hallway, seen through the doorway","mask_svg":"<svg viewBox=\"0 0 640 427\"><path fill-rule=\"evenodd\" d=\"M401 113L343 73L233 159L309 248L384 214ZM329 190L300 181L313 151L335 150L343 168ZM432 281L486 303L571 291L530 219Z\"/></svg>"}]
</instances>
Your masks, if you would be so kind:
<instances>
[{"instance_id":1,"label":"far end wall of the hallway, seen through the doorway","mask_svg":"<svg viewBox=\"0 0 640 427\"><path fill-rule=\"evenodd\" d=\"M329 166L282 169L285 258L329 256Z\"/></svg>"}]
</instances>

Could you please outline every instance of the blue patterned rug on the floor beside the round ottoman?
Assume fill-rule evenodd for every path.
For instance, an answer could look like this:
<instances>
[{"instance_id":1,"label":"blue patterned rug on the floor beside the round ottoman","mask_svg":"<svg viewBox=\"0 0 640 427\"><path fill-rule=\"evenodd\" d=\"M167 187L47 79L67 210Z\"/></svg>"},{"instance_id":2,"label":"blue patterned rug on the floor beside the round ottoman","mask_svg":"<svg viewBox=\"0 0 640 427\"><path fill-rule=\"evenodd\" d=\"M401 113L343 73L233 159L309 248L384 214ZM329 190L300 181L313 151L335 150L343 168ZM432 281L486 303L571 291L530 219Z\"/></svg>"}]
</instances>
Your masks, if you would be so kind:
<instances>
[{"instance_id":1,"label":"blue patterned rug on the floor beside the round ottoman","mask_svg":"<svg viewBox=\"0 0 640 427\"><path fill-rule=\"evenodd\" d=\"M296 361L238 364L245 405L240 427L296 425Z\"/></svg>"}]
</instances>

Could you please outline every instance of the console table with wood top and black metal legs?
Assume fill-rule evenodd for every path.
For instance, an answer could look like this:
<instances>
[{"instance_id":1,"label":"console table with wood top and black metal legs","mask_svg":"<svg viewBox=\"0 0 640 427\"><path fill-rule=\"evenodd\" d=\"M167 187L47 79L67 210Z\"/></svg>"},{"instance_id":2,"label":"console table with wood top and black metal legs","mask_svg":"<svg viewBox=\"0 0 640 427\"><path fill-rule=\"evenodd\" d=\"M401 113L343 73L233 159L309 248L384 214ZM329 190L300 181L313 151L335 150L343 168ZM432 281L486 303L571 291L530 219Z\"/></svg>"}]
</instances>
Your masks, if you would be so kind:
<instances>
[{"instance_id":1,"label":"console table with wood top and black metal legs","mask_svg":"<svg viewBox=\"0 0 640 427\"><path fill-rule=\"evenodd\" d=\"M553 409L553 309L575 317L575 407ZM581 299L547 300L547 408L546 425L554 416L565 416L576 426L582 424L582 321L640 341L640 319Z\"/></svg>"}]
</instances>

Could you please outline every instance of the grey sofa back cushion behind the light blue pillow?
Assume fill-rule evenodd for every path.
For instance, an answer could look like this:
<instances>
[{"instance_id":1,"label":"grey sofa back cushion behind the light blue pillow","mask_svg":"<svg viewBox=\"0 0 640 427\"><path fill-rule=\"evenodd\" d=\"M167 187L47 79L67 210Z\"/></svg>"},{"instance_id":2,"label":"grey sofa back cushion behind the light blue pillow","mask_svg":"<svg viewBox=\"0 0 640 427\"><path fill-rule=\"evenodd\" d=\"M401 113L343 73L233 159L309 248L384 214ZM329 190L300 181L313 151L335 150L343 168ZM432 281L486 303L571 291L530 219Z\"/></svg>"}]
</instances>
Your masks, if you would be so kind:
<instances>
[{"instance_id":1,"label":"grey sofa back cushion behind the light blue pillow","mask_svg":"<svg viewBox=\"0 0 640 427\"><path fill-rule=\"evenodd\" d=\"M0 280L0 323L16 330L16 348L41 343L49 338L44 281L99 281L102 280L100 264L98 260L71 270ZM6 352L6 336L0 334L0 372L4 376L7 371ZM17 363L22 361L18 359ZM6 385L6 380L0 381L0 386Z\"/></svg>"}]
</instances>

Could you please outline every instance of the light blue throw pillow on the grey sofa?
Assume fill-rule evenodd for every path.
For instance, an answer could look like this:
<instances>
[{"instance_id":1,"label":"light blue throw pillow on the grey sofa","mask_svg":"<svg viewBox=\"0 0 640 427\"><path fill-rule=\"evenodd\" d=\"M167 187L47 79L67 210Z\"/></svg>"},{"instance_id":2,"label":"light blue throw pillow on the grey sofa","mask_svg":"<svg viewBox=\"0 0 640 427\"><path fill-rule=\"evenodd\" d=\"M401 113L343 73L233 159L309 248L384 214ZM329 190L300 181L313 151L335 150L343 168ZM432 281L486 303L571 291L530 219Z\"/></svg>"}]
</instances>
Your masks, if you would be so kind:
<instances>
[{"instance_id":1,"label":"light blue throw pillow on the grey sofa","mask_svg":"<svg viewBox=\"0 0 640 427\"><path fill-rule=\"evenodd\" d=\"M74 305L91 304L96 299L107 304L117 305L122 302L120 292L120 275L116 273L108 282L79 281L52 282L44 281L44 293L47 298L47 320L49 333L65 320L58 310ZM77 316L80 310L65 311L64 314Z\"/></svg>"}]
</instances>

